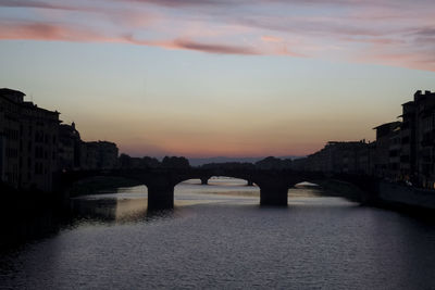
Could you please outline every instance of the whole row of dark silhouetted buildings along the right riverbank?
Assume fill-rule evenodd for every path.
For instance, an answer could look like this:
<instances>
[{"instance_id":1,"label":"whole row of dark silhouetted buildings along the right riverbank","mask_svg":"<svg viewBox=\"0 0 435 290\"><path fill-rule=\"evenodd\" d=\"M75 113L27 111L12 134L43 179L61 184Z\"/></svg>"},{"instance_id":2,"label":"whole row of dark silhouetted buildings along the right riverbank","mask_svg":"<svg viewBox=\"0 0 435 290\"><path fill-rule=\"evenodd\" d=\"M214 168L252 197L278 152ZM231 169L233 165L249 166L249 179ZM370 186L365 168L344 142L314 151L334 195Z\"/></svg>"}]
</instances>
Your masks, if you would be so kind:
<instances>
[{"instance_id":1,"label":"whole row of dark silhouetted buildings along the right riverbank","mask_svg":"<svg viewBox=\"0 0 435 290\"><path fill-rule=\"evenodd\" d=\"M402 121L374 127L376 141L330 141L294 168L366 174L435 189L435 92L418 90L402 104Z\"/></svg>"}]
</instances>

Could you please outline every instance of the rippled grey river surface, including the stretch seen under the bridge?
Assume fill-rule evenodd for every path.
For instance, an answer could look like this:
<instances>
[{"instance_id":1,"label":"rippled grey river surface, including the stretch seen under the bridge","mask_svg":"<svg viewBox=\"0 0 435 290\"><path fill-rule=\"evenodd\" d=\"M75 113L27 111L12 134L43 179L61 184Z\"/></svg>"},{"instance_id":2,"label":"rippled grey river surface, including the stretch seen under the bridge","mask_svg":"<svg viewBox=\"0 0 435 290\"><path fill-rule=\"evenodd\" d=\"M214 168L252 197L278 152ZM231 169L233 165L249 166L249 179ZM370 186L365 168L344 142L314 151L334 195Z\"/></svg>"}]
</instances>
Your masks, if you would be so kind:
<instances>
[{"instance_id":1,"label":"rippled grey river surface, including the stretch seen under the bridge","mask_svg":"<svg viewBox=\"0 0 435 290\"><path fill-rule=\"evenodd\" d=\"M236 179L176 187L147 213L146 188L72 201L57 234L1 253L0 288L435 289L435 224L294 189L260 207Z\"/></svg>"}]
</instances>

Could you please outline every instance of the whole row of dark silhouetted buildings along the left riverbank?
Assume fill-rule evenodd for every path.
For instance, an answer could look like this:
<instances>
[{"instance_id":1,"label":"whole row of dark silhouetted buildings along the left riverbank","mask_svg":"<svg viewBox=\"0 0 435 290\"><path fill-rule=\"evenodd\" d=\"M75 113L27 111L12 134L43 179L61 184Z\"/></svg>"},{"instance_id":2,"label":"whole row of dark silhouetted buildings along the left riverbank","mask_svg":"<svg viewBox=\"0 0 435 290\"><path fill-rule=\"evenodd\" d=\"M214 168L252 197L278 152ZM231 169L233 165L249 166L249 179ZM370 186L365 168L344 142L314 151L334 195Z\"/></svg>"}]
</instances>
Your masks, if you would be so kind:
<instances>
[{"instance_id":1,"label":"whole row of dark silhouetted buildings along the left riverbank","mask_svg":"<svg viewBox=\"0 0 435 290\"><path fill-rule=\"evenodd\" d=\"M0 181L15 189L51 191L59 172L117 167L109 141L85 142L58 111L38 108L25 93L0 89Z\"/></svg>"}]
</instances>

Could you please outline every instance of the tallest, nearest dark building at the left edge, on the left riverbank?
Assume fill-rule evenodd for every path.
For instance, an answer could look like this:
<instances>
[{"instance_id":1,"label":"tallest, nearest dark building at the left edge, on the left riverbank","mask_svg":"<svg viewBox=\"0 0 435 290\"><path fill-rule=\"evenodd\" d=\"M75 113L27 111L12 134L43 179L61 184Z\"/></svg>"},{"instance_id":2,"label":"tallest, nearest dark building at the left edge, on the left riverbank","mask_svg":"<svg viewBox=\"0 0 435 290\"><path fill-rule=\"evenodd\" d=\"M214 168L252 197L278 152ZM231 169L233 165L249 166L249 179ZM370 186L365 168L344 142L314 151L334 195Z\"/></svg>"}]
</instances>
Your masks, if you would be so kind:
<instances>
[{"instance_id":1,"label":"tallest, nearest dark building at the left edge, on the left riverbank","mask_svg":"<svg viewBox=\"0 0 435 290\"><path fill-rule=\"evenodd\" d=\"M1 178L17 189L50 191L58 171L59 113L24 96L0 89Z\"/></svg>"}]
</instances>

